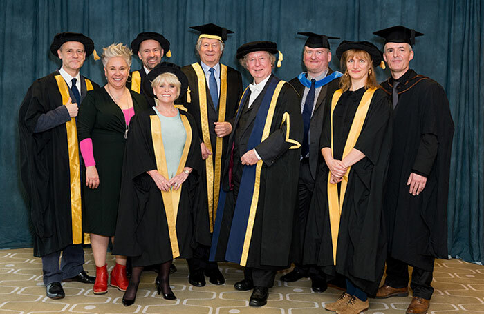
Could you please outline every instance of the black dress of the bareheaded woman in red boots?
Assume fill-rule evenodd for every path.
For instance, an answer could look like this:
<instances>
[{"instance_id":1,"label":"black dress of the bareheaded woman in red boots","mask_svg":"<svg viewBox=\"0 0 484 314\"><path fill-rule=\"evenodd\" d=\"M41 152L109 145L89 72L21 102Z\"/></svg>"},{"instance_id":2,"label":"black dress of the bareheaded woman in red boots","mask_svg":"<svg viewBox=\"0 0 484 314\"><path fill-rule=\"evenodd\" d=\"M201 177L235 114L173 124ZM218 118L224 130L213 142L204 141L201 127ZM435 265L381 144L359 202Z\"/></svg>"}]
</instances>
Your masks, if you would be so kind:
<instances>
[{"instance_id":1,"label":"black dress of the bareheaded woman in red boots","mask_svg":"<svg viewBox=\"0 0 484 314\"><path fill-rule=\"evenodd\" d=\"M136 114L147 109L145 97L131 92ZM118 215L124 133L126 122L121 108L115 104L105 88L86 95L77 117L79 141L91 138L100 184L92 189L82 187L84 195L84 232L113 236ZM85 168L82 177L85 178Z\"/></svg>"}]
</instances>

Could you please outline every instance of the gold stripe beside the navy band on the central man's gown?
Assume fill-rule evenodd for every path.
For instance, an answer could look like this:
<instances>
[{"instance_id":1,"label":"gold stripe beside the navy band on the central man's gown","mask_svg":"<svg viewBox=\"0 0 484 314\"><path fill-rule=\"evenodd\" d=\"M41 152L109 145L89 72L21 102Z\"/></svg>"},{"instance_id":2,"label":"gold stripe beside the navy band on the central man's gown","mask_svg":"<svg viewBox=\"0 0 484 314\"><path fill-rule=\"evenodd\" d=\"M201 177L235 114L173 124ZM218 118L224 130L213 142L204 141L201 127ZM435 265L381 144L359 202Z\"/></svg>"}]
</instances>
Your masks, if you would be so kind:
<instances>
[{"instance_id":1,"label":"gold stripe beside the navy band on the central man's gown","mask_svg":"<svg viewBox=\"0 0 484 314\"><path fill-rule=\"evenodd\" d=\"M267 112L266 123L264 124L264 128L262 131L261 142L267 139L270 135L270 126L272 125L272 118L274 117L274 110L276 109L277 99L279 98L279 93L281 92L281 88L285 83L285 81L279 81L274 90L274 94L272 95L272 99L270 100L269 110ZM269 82L266 84L269 84ZM245 264L247 264L247 257L249 255L250 240L252 239L252 230L254 229L255 214L257 213L257 204L259 203L262 165L262 159L257 161L257 165L255 168L254 193L252 193L252 202L250 202L250 212L247 222L247 230L245 231L245 239L243 241L243 249L240 262L241 266L245 266Z\"/></svg>"}]
</instances>

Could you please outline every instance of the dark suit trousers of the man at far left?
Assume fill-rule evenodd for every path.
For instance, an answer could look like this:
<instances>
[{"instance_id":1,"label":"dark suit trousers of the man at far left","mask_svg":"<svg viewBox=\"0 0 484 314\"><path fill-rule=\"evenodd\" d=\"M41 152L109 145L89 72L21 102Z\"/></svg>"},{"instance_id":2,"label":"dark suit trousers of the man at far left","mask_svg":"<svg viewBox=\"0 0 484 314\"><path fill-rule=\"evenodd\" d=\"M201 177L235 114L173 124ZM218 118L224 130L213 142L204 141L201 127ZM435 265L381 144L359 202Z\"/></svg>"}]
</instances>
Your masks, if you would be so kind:
<instances>
[{"instance_id":1,"label":"dark suit trousers of the man at far left","mask_svg":"<svg viewBox=\"0 0 484 314\"><path fill-rule=\"evenodd\" d=\"M53 282L62 282L79 274L84 264L84 250L82 244L71 244L62 251L61 265L59 257L61 251L50 253L42 257L42 271L44 272L44 284L47 286Z\"/></svg>"}]
</instances>

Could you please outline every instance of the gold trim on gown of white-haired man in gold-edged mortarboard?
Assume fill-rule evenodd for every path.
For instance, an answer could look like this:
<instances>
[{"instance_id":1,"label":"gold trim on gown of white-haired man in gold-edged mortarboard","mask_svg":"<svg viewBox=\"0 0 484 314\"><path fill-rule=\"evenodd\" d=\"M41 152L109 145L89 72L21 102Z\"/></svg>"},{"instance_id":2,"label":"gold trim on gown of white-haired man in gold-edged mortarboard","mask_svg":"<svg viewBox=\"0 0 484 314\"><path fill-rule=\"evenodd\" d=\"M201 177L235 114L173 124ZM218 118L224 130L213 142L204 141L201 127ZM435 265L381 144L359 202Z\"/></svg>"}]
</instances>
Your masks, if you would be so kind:
<instances>
[{"instance_id":1,"label":"gold trim on gown of white-haired man in gold-edged mortarboard","mask_svg":"<svg viewBox=\"0 0 484 314\"><path fill-rule=\"evenodd\" d=\"M202 126L202 136L205 146L211 151L205 159L205 171L207 173L207 199L208 199L208 216L210 220L210 232L214 232L214 220L217 213L218 196L220 193L220 175L222 168L222 150L223 138L217 137L215 143L215 156L212 151L212 143L210 142L210 130L208 126L208 112L207 112L207 89L205 73L199 63L193 63L196 77L198 79L198 106L200 107L200 122ZM227 104L227 66L220 65L220 97L218 101L218 122L225 121L225 109ZM215 157L215 169L214 161Z\"/></svg>"}]
</instances>

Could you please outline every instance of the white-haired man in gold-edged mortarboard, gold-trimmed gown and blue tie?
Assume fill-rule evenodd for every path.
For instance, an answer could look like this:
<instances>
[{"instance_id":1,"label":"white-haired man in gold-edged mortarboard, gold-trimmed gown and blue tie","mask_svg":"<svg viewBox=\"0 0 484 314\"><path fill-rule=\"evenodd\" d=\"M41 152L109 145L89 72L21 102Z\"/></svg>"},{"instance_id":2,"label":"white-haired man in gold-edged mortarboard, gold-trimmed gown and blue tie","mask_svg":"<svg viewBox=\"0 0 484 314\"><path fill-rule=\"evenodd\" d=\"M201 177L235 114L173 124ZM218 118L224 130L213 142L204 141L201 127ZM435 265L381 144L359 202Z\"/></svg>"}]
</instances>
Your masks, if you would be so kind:
<instances>
[{"instance_id":1,"label":"white-haired man in gold-edged mortarboard, gold-trimmed gown and blue tie","mask_svg":"<svg viewBox=\"0 0 484 314\"><path fill-rule=\"evenodd\" d=\"M188 112L195 117L204 159L202 203L213 232L221 183L221 170L227 155L228 136L232 131L239 99L242 95L241 73L220 63L224 41L231 30L212 23L193 26L201 32L196 51L201 61L182 68L188 77L186 101ZM205 275L212 284L220 285L225 278L216 262L208 262L210 247L198 246L194 257L188 259L189 283L205 286Z\"/></svg>"}]
</instances>

